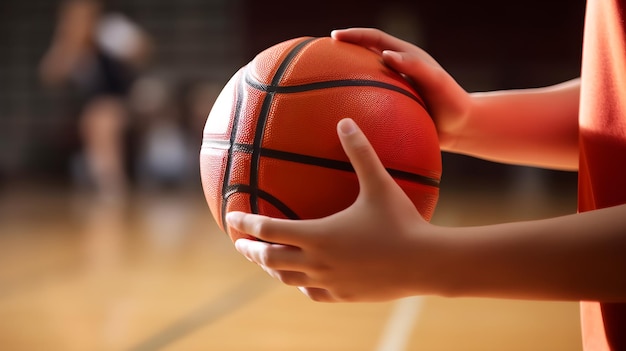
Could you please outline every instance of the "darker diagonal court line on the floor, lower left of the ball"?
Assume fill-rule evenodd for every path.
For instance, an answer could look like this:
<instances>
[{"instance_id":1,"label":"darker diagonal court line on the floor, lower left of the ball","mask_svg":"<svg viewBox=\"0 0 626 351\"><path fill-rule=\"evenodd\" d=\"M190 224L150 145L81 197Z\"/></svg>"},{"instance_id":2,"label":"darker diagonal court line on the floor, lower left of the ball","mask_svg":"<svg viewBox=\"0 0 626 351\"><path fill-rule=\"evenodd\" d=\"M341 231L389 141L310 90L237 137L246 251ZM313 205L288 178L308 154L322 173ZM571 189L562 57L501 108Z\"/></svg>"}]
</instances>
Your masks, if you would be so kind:
<instances>
[{"instance_id":1,"label":"darker diagonal court line on the floor, lower left of the ball","mask_svg":"<svg viewBox=\"0 0 626 351\"><path fill-rule=\"evenodd\" d=\"M155 333L152 337L130 348L131 351L161 350L166 345L179 340L194 330L213 323L246 303L260 297L265 291L276 286L267 275L256 273L233 289L226 291L220 298L212 299L192 313Z\"/></svg>"}]
</instances>

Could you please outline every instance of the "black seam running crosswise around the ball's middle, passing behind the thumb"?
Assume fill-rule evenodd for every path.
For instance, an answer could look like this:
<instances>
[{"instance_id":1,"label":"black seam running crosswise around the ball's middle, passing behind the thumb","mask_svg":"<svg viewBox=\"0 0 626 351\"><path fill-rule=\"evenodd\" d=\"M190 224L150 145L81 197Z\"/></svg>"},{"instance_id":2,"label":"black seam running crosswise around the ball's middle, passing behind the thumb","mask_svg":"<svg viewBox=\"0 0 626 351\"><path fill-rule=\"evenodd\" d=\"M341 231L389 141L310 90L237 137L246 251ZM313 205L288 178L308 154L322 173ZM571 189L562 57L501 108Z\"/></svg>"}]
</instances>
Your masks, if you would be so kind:
<instances>
[{"instance_id":1,"label":"black seam running crosswise around the ball's middle, passing behind the thumb","mask_svg":"<svg viewBox=\"0 0 626 351\"><path fill-rule=\"evenodd\" d=\"M224 144L226 144L226 142L221 141L221 140L203 141L203 145L205 145L203 147L211 148L212 144L217 144L218 147L216 148L222 148ZM232 146L231 149L233 152L243 152L243 153L251 154L253 152L252 148L253 148L252 145L236 143ZM274 149L268 149L268 148L261 148L259 153L263 157L269 157L269 158L273 158L277 160L290 161L290 162L295 162L295 163L329 168L329 169L336 169L340 171L354 172L354 168L352 167L352 164L346 161L339 161L339 160L333 160L333 159L317 157L317 156L296 154L293 152L274 150ZM422 185L433 186L433 187L439 187L439 184L440 184L440 180L438 178L429 177L429 176L418 174L418 173L402 171L402 170L394 169L394 168L385 168L385 169L394 178L403 179L406 181L419 183Z\"/></svg>"}]
</instances>

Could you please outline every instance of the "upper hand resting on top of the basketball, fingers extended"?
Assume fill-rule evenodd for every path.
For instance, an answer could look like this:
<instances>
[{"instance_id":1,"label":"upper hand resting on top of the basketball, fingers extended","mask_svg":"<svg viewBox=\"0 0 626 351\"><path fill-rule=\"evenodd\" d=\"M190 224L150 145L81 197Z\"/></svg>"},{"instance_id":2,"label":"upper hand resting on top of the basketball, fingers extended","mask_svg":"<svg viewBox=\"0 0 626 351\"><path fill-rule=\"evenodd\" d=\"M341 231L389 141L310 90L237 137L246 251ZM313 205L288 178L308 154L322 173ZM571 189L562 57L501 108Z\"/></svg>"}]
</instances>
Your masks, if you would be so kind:
<instances>
[{"instance_id":1,"label":"upper hand resting on top of the basketball, fingers extended","mask_svg":"<svg viewBox=\"0 0 626 351\"><path fill-rule=\"evenodd\" d=\"M421 48L373 28L335 30L334 39L381 54L383 61L411 81L437 126L442 149L454 143L456 130L470 113L470 95Z\"/></svg>"}]
</instances>

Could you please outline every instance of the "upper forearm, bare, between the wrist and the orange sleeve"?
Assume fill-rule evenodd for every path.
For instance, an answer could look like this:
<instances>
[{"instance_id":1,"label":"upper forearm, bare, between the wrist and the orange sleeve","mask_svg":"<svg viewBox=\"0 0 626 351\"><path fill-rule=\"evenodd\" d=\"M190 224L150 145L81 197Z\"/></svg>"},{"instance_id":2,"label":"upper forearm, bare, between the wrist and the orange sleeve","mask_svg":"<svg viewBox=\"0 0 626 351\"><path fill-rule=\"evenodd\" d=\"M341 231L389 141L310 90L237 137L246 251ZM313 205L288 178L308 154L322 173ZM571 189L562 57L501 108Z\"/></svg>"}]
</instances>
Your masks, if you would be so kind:
<instances>
[{"instance_id":1,"label":"upper forearm, bare, between the wrist and the orange sleeve","mask_svg":"<svg viewBox=\"0 0 626 351\"><path fill-rule=\"evenodd\" d=\"M444 151L487 160L575 170L579 81L471 94L471 108L447 131Z\"/></svg>"}]
</instances>

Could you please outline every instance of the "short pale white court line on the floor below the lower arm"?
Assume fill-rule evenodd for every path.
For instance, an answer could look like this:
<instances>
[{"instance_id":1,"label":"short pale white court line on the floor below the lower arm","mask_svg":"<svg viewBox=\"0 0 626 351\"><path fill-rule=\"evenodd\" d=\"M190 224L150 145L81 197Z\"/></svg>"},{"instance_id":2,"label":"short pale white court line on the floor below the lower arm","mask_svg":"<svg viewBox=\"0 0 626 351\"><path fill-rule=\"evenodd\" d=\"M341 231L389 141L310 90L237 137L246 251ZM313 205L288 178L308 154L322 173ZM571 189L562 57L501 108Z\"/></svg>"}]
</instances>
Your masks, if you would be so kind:
<instances>
[{"instance_id":1,"label":"short pale white court line on the floor below the lower arm","mask_svg":"<svg viewBox=\"0 0 626 351\"><path fill-rule=\"evenodd\" d=\"M396 301L375 350L406 350L413 326L419 318L423 303L424 298L420 296L407 297Z\"/></svg>"}]
</instances>

